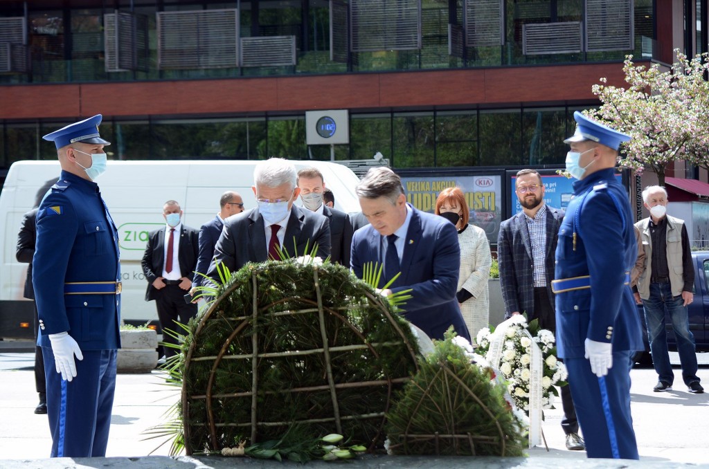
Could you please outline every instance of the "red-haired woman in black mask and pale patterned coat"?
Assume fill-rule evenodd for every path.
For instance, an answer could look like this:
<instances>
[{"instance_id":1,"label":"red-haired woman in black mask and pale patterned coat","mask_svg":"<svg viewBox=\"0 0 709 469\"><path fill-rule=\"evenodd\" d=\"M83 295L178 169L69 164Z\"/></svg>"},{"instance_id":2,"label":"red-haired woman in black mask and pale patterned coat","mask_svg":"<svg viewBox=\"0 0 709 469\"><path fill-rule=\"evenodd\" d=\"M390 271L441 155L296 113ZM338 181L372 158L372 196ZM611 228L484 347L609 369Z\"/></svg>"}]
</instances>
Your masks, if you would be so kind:
<instances>
[{"instance_id":1,"label":"red-haired woman in black mask and pale patterned coat","mask_svg":"<svg viewBox=\"0 0 709 469\"><path fill-rule=\"evenodd\" d=\"M435 213L447 218L458 230L460 273L457 298L470 337L474 339L489 323L490 244L481 228L468 225L470 210L459 187L441 191Z\"/></svg>"}]
</instances>

